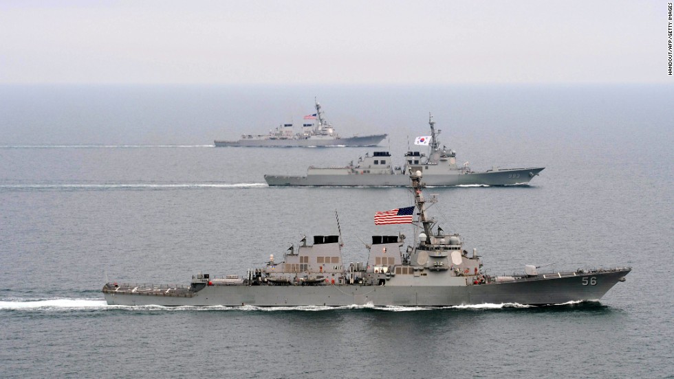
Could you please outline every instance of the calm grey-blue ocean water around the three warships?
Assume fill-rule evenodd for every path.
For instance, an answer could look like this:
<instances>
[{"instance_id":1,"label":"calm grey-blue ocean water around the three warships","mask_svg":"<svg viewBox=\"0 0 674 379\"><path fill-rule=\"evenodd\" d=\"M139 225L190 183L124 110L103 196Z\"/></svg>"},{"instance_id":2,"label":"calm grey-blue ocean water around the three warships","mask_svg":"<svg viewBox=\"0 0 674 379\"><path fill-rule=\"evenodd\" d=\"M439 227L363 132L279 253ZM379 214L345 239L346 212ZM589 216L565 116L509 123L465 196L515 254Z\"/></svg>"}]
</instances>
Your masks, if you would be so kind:
<instances>
[{"instance_id":1,"label":"calm grey-blue ocean water around the three warships","mask_svg":"<svg viewBox=\"0 0 674 379\"><path fill-rule=\"evenodd\" d=\"M301 236L365 260L403 188L270 188L373 148L213 148L301 124L428 133L531 185L430 188L490 273L632 266L598 303L426 308L107 306L107 280L242 274ZM673 378L674 87L0 87L0 377ZM408 240L411 240L409 238Z\"/></svg>"}]
</instances>

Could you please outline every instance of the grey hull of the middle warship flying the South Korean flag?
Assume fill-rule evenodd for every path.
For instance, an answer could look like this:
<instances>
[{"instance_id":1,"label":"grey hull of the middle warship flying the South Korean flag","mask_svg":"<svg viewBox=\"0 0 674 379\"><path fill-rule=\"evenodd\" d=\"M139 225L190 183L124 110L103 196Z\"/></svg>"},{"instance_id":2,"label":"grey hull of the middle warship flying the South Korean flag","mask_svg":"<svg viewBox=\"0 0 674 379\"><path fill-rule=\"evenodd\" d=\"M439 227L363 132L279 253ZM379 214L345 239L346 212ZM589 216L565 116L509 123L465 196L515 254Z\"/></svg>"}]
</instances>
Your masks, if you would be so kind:
<instances>
[{"instance_id":1,"label":"grey hull of the middle warship flying the South Korean flag","mask_svg":"<svg viewBox=\"0 0 674 379\"><path fill-rule=\"evenodd\" d=\"M457 185L525 185L543 168L514 168L486 172L424 174L424 182L431 186ZM310 176L265 175L270 186L337 186L337 187L409 187L409 176L404 174L336 174Z\"/></svg>"}]
</instances>

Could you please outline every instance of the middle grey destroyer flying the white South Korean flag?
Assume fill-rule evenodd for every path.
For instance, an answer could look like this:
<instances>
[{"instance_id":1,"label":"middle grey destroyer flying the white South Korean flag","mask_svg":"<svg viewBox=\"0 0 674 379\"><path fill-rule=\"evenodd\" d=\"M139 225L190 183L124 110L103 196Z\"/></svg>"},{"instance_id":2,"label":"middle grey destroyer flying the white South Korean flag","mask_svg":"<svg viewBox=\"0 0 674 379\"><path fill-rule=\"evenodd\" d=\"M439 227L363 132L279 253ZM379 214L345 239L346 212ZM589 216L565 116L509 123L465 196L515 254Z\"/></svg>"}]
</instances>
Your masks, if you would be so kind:
<instances>
[{"instance_id":1,"label":"middle grey destroyer flying the white South Korean flag","mask_svg":"<svg viewBox=\"0 0 674 379\"><path fill-rule=\"evenodd\" d=\"M424 174L427 185L526 185L534 176L543 171L542 167L534 168L492 168L476 172L464 165L457 165L456 152L440 148L437 139L440 130L435 131L435 122L431 115L428 119L431 126L430 153L428 157L418 151L405 154L404 165L393 166L391 154L387 151L374 152L372 156L360 157L354 165L351 161L344 167L314 167L307 170L307 176L283 176L265 174L268 185L294 186L351 186L351 187L388 187L409 185L410 172L420 171Z\"/></svg>"}]
</instances>

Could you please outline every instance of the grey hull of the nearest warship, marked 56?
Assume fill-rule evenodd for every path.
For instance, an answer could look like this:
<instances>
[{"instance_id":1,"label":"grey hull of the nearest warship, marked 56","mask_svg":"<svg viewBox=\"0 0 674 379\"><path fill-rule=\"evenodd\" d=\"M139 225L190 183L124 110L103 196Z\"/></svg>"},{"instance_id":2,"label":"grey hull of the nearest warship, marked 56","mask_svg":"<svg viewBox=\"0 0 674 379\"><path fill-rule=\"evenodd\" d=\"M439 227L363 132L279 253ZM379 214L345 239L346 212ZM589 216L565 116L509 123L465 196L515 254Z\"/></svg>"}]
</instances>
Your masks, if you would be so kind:
<instances>
[{"instance_id":1,"label":"grey hull of the nearest warship, marked 56","mask_svg":"<svg viewBox=\"0 0 674 379\"><path fill-rule=\"evenodd\" d=\"M110 305L124 306L460 306L484 303L525 305L598 301L630 269L559 273L514 282L464 286L207 286L198 292L103 292ZM471 277L466 277L470 283Z\"/></svg>"}]
</instances>

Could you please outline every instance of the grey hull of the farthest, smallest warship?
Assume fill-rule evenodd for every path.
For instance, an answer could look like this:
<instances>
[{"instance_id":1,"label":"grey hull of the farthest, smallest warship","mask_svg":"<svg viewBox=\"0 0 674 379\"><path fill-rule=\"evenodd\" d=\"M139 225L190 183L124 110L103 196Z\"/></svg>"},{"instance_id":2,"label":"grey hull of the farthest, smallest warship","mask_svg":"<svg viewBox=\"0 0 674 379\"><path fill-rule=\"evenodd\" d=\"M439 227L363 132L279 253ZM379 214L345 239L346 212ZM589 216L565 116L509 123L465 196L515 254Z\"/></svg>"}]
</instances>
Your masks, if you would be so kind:
<instances>
[{"instance_id":1,"label":"grey hull of the farthest, smallest warship","mask_svg":"<svg viewBox=\"0 0 674 379\"><path fill-rule=\"evenodd\" d=\"M327 146L377 146L387 135L366 135L338 139L239 139L239 141L214 141L215 147L251 148L309 148Z\"/></svg>"}]
</instances>

